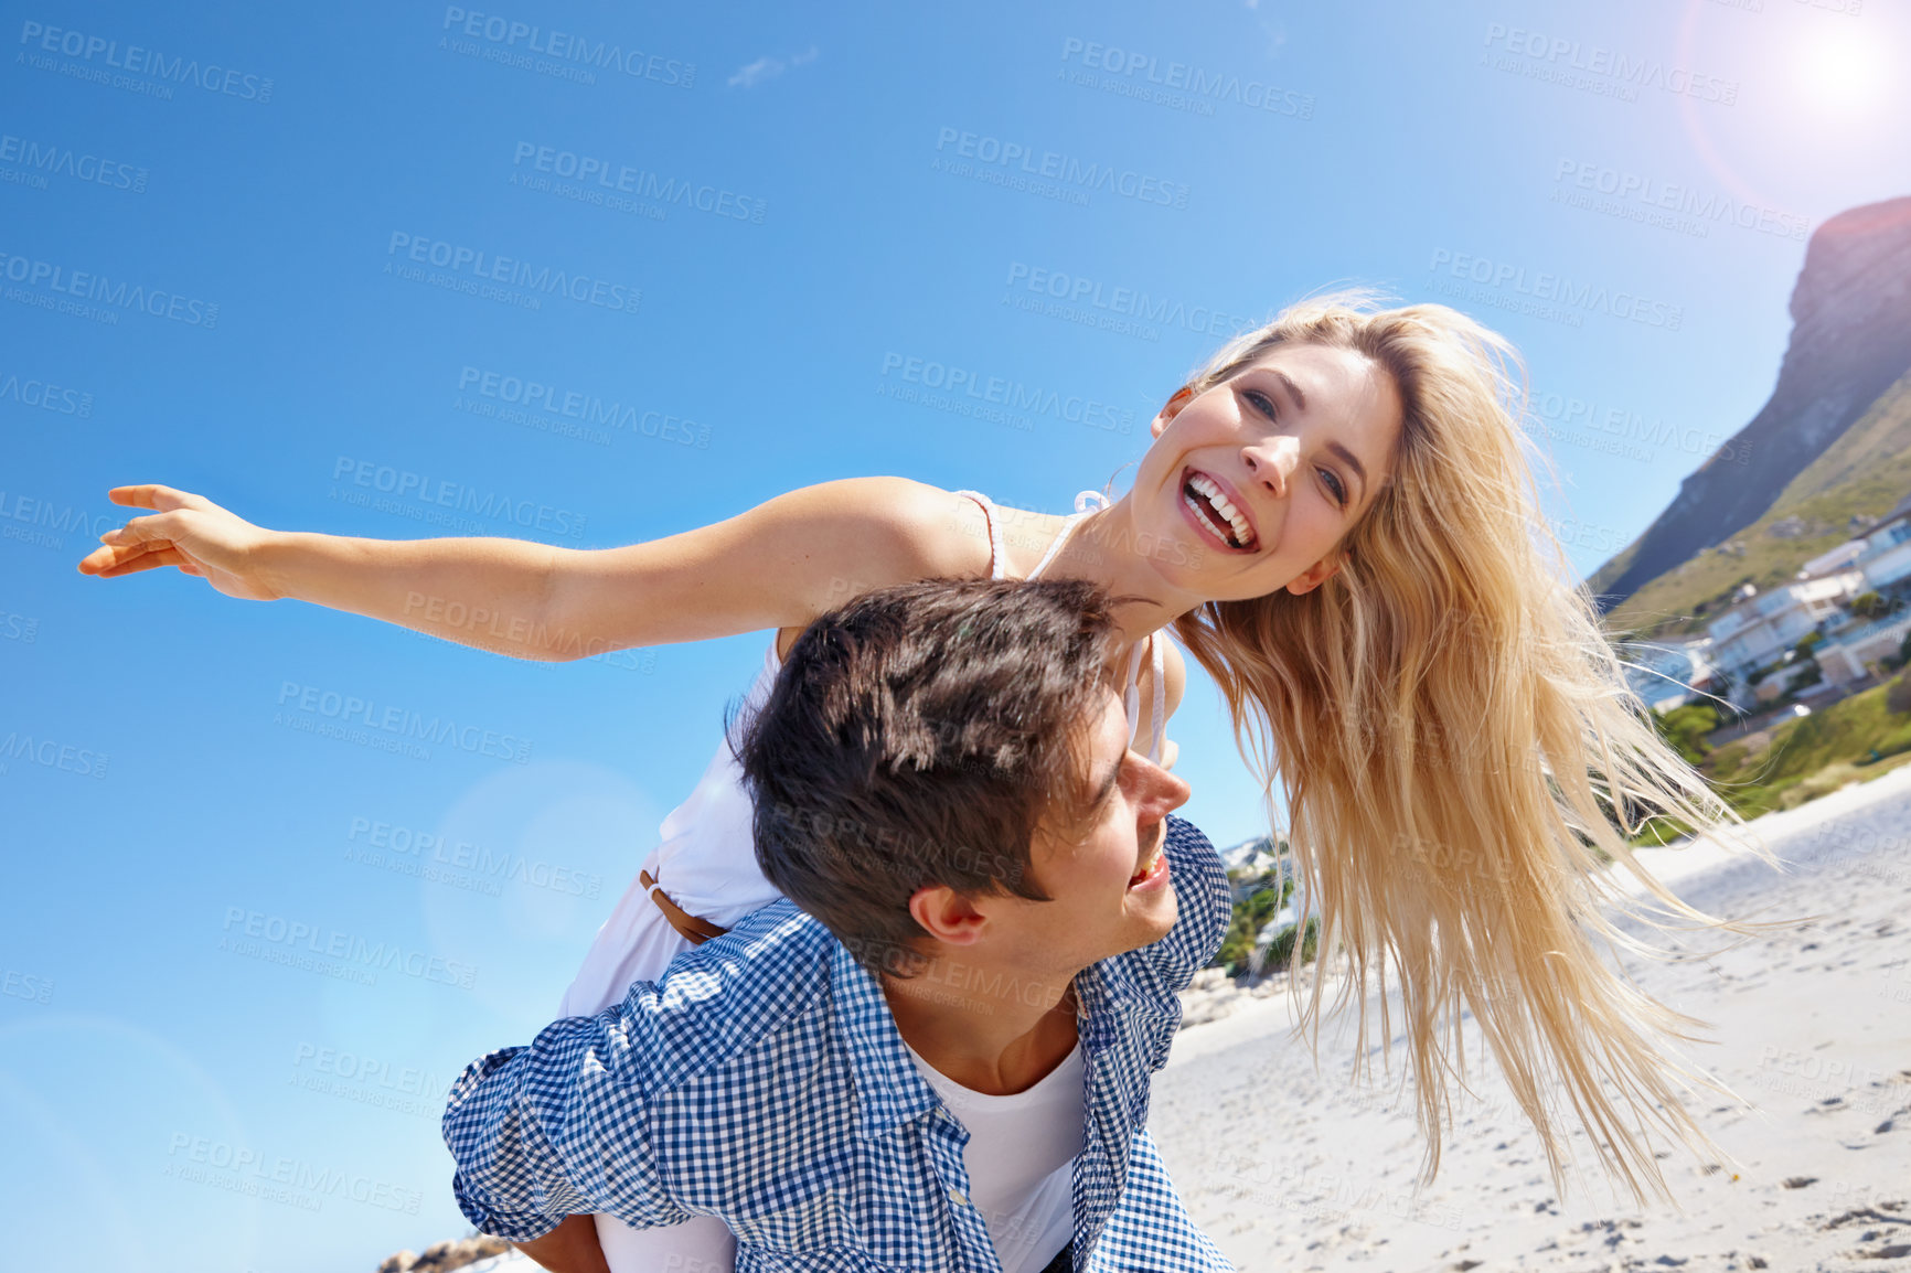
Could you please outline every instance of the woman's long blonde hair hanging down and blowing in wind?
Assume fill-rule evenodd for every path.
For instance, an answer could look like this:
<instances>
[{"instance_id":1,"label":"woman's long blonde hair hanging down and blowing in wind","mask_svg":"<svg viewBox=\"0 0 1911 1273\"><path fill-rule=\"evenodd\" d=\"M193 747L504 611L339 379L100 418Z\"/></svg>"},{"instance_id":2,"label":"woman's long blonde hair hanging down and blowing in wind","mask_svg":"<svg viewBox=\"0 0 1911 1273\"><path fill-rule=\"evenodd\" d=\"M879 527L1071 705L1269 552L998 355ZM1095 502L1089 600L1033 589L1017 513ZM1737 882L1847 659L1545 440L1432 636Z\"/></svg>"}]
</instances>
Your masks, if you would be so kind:
<instances>
[{"instance_id":1,"label":"woman's long blonde hair hanging down and blowing in wind","mask_svg":"<svg viewBox=\"0 0 1911 1273\"><path fill-rule=\"evenodd\" d=\"M1449 1078L1464 1086L1464 1007L1538 1130L1556 1189L1569 1156L1552 1097L1563 1091L1611 1176L1640 1200L1670 1197L1651 1124L1716 1154L1672 1076L1726 1090L1653 1038L1691 1040L1705 1023L1628 984L1590 940L1643 950L1601 902L1666 927L1619 896L1600 852L1666 910L1743 933L1680 902L1626 845L1643 816L1705 831L1743 820L1659 738L1596 606L1567 583L1533 480L1542 457L1521 430L1517 352L1456 310L1382 310L1361 289L1290 306L1189 388L1278 344L1353 350L1391 375L1405 407L1391 478L1324 585L1208 602L1175 619L1175 635L1219 682L1269 797L1277 782L1286 789L1301 925L1319 902L1322 954L1340 946L1351 960L1336 1007L1357 996L1355 1072L1370 961L1382 1036L1393 1034L1391 956L1424 1179L1450 1126ZM1301 1009L1317 1051L1324 984L1313 979Z\"/></svg>"}]
</instances>

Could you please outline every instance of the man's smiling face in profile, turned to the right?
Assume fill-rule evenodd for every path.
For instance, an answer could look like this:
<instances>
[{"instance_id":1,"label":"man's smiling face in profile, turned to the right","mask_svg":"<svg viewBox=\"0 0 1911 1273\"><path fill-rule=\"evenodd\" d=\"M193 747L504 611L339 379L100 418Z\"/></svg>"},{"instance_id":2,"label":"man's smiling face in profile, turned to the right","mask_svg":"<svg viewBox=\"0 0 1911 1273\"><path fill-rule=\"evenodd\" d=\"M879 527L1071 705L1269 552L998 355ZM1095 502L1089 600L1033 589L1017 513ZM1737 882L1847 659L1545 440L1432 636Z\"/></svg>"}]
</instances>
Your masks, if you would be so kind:
<instances>
[{"instance_id":1,"label":"man's smiling face in profile, turned to the right","mask_svg":"<svg viewBox=\"0 0 1911 1273\"><path fill-rule=\"evenodd\" d=\"M1147 946L1175 925L1168 879L1168 814L1189 799L1189 784L1127 749L1127 713L1112 686L1089 721L1089 797L1101 797L1072 830L1043 826L1030 847L1036 887L1047 902L1013 898L992 908L1017 960L1072 975L1108 956Z\"/></svg>"}]
</instances>

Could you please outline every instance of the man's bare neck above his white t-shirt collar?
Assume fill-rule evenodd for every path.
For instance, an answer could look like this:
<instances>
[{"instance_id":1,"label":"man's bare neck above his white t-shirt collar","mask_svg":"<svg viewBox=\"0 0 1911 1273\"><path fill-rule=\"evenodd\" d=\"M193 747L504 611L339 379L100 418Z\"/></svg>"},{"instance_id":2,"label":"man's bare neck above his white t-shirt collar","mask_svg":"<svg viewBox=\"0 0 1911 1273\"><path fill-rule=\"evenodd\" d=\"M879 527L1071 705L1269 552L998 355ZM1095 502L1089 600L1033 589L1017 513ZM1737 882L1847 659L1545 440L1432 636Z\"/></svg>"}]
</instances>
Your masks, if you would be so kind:
<instances>
[{"instance_id":1,"label":"man's bare neck above his white t-shirt collar","mask_svg":"<svg viewBox=\"0 0 1911 1273\"><path fill-rule=\"evenodd\" d=\"M1072 977L1041 984L936 960L917 977L881 982L902 1040L973 1091L1026 1091L1076 1046Z\"/></svg>"}]
</instances>

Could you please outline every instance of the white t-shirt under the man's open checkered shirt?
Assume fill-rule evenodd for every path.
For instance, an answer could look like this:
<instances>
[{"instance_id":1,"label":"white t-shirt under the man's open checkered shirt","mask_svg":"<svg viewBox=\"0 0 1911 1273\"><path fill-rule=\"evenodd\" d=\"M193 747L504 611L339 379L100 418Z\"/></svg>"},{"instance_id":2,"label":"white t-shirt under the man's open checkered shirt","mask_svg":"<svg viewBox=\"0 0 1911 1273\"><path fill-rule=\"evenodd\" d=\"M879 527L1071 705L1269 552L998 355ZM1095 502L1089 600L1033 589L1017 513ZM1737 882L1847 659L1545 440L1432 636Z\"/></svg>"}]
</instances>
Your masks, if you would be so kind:
<instances>
[{"instance_id":1,"label":"white t-shirt under the man's open checkered shirt","mask_svg":"<svg viewBox=\"0 0 1911 1273\"><path fill-rule=\"evenodd\" d=\"M961 1151L969 1204L988 1227L1001 1273L1040 1273L1074 1235L1070 1168L1082 1153L1087 1116L1082 1044L1034 1088L1015 1095L963 1088L913 1047L910 1061L969 1130Z\"/></svg>"}]
</instances>

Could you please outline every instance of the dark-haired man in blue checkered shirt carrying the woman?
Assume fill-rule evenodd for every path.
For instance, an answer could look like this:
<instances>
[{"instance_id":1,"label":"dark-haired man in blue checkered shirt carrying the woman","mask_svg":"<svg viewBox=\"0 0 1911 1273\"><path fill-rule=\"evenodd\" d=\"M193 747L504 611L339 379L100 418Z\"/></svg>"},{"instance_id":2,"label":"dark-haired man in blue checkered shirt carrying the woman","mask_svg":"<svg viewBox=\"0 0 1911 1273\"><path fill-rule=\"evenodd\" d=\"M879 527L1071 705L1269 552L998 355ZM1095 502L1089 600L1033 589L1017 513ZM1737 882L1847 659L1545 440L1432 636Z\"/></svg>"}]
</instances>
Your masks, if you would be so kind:
<instances>
[{"instance_id":1,"label":"dark-haired man in blue checkered shirt carrying the woman","mask_svg":"<svg viewBox=\"0 0 1911 1273\"><path fill-rule=\"evenodd\" d=\"M738 742L789 900L472 1063L464 1216L566 1273L590 1212L717 1216L740 1273L1227 1269L1143 1126L1227 877L1127 749L1120 648L1082 581L810 625Z\"/></svg>"}]
</instances>

